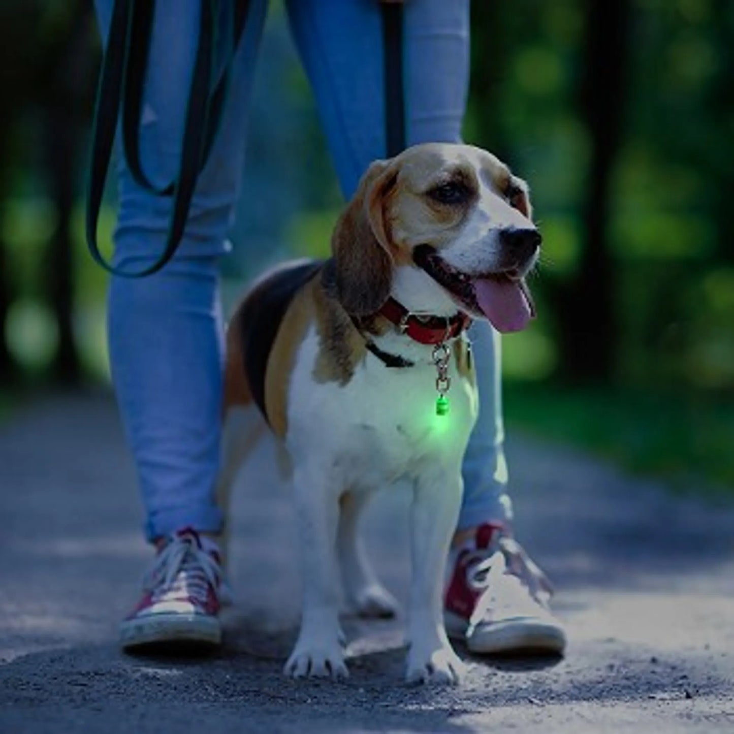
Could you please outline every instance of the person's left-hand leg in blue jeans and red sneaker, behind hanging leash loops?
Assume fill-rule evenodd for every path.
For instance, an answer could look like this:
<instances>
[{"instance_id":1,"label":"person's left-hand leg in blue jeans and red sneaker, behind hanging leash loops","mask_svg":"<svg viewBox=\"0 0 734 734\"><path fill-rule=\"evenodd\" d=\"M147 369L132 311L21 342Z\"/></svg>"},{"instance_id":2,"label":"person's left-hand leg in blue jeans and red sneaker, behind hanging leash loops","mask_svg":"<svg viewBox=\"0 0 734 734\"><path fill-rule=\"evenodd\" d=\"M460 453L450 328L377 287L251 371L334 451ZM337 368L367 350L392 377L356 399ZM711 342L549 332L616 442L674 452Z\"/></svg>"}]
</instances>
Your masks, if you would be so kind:
<instances>
[{"instance_id":1,"label":"person's left-hand leg in blue jeans and red sneaker, behind hanging leash loops","mask_svg":"<svg viewBox=\"0 0 734 734\"><path fill-rule=\"evenodd\" d=\"M222 402L218 261L227 250L225 237L242 169L247 101L266 0L253 0L250 6L222 126L197 181L181 247L156 275L113 277L109 288L112 377L137 468L145 533L159 541L159 548L166 538L190 548L159 553L159 562L178 563L181 573L170 575L164 569L163 576L175 581L167 589L160 587L160 574L151 577L141 605L123 622L126 645L190 638L189 623L195 619L201 639L216 642L219 636L214 619L218 604L211 593L213 585L217 590L218 580L212 581L217 574L206 573L207 568L211 572L207 558L218 559L200 534L217 534L223 522L215 502ZM97 10L106 39L112 0L98 0ZM157 185L178 171L198 37L198 3L159 0L140 131L142 164ZM172 199L139 186L124 156L118 157L120 210L113 261L123 269L139 269L164 247ZM189 530L182 534L183 528ZM161 611L165 613L157 614ZM152 612L157 626L150 623Z\"/></svg>"}]
</instances>

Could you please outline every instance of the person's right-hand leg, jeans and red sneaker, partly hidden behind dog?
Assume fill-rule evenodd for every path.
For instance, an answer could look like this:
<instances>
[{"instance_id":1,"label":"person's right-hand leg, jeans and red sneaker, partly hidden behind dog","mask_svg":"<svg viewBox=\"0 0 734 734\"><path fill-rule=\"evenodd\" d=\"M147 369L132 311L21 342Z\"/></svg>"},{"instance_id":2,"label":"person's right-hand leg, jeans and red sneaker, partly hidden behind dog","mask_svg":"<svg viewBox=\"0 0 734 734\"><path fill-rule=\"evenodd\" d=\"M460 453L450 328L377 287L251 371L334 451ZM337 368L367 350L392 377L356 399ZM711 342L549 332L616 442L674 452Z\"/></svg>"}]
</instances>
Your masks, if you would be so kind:
<instances>
[{"instance_id":1,"label":"person's right-hand leg, jeans and red sneaker, partly hidden behind dog","mask_svg":"<svg viewBox=\"0 0 734 734\"><path fill-rule=\"evenodd\" d=\"M379 2L288 0L288 12L341 189L351 197L368 164L385 157ZM460 142L469 78L469 0L410 0L404 12L407 143ZM465 636L476 652L528 647L555 652L565 639L545 608L543 577L509 539L512 507L502 448L499 338L488 324L478 323L472 340L479 421L462 468L465 491L451 557L447 622L461 607L454 633ZM467 544L470 556L464 552ZM484 584L479 591L474 571L489 558L502 572L493 573L491 590ZM495 597L504 609L499 617L490 605Z\"/></svg>"}]
</instances>

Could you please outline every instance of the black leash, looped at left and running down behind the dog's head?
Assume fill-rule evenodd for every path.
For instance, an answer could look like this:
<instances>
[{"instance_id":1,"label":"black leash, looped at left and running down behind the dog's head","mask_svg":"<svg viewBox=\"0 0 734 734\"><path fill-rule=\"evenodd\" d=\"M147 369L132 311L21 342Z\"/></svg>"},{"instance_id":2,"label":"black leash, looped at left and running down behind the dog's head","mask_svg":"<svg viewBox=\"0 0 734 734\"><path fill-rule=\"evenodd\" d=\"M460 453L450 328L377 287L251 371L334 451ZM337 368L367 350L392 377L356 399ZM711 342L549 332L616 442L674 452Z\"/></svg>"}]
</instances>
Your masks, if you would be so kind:
<instances>
[{"instance_id":1,"label":"black leash, looped at left and running down behind the dog's head","mask_svg":"<svg viewBox=\"0 0 734 734\"><path fill-rule=\"evenodd\" d=\"M153 33L155 0L115 0L112 22L97 90L92 123L92 155L87 192L87 247L92 258L107 272L120 277L144 277L158 272L175 255L186 228L189 208L199 173L206 165L222 121L231 68L236 48L247 23L247 0L232 1L231 46L219 79L214 79L217 49L217 21L220 0L200 0L201 32L197 48L186 122L181 145L178 175L156 186L145 174L140 161L139 128L145 72L148 68ZM382 1L382 32L385 61L385 142L388 156L405 148L403 79L403 7L401 2ZM168 236L163 252L152 265L125 271L110 264L97 241L97 224L102 206L104 183L115 144L117 120L122 107L123 150L135 181L159 196L173 198Z\"/></svg>"}]
</instances>

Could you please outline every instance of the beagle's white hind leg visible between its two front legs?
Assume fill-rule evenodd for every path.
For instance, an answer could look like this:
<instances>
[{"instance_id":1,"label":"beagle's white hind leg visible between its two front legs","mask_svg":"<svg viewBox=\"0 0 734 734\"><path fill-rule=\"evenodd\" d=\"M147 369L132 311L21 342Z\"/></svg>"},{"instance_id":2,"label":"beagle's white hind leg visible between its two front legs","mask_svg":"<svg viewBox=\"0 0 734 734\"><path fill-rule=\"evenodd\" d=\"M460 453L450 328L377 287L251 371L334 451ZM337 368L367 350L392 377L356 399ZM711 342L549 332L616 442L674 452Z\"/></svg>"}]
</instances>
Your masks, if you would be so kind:
<instances>
[{"instance_id":1,"label":"beagle's white hind leg visible between its two front legs","mask_svg":"<svg viewBox=\"0 0 734 734\"><path fill-rule=\"evenodd\" d=\"M394 617L399 604L377 580L359 534L360 516L371 497L372 493L346 492L339 501L341 516L336 545L344 595L349 611L355 611L360 617Z\"/></svg>"}]
</instances>

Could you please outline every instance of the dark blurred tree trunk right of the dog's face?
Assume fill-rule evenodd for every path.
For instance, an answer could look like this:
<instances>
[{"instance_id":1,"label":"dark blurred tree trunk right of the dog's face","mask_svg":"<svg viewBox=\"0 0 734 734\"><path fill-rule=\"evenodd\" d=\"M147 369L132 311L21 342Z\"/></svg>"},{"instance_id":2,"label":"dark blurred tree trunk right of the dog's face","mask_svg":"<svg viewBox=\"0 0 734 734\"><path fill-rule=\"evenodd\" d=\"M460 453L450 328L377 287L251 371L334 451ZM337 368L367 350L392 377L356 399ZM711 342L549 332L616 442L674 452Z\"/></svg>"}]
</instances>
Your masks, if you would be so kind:
<instances>
[{"instance_id":1,"label":"dark blurred tree trunk right of the dog's face","mask_svg":"<svg viewBox=\"0 0 734 734\"><path fill-rule=\"evenodd\" d=\"M608 241L609 190L623 131L628 0L594 1L586 16L581 111L591 162L578 277L559 293L562 370L576 381L604 381L614 370L615 267Z\"/></svg>"}]
</instances>

